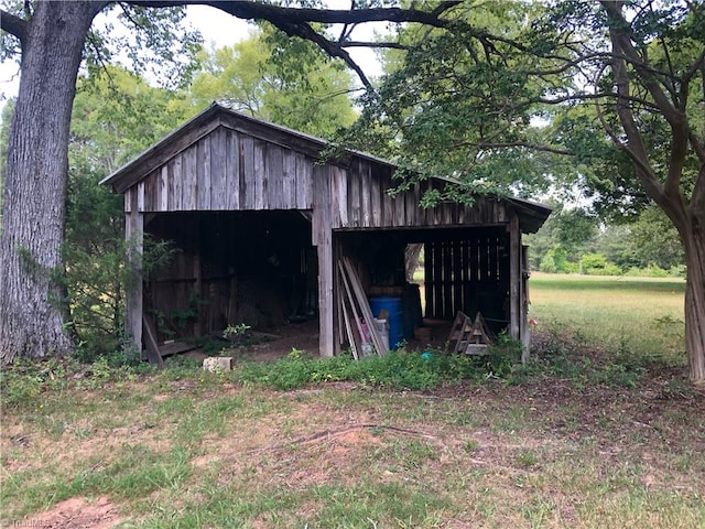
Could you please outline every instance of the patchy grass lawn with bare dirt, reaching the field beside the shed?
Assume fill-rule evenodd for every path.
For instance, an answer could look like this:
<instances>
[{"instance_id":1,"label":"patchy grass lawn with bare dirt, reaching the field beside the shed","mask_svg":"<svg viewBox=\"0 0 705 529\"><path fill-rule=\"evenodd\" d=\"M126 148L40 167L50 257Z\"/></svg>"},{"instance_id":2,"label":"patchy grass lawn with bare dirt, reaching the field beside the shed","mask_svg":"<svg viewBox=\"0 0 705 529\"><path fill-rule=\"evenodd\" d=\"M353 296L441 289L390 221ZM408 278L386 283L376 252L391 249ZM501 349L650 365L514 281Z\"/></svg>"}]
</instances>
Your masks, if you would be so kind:
<instances>
[{"instance_id":1,"label":"patchy grass lawn with bare dirt, reaching the field beside the shed","mask_svg":"<svg viewBox=\"0 0 705 529\"><path fill-rule=\"evenodd\" d=\"M582 279L531 279L531 365L424 390L278 391L247 366L6 376L3 526L703 528L682 285ZM281 361L272 374L313 360Z\"/></svg>"}]
</instances>

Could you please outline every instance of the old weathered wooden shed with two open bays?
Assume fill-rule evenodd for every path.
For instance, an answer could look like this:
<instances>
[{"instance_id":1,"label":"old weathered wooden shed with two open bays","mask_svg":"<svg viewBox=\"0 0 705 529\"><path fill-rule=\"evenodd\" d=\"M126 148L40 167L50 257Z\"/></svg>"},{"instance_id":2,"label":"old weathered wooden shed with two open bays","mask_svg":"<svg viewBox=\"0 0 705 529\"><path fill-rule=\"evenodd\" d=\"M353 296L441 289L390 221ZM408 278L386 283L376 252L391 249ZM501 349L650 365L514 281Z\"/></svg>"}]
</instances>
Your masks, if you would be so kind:
<instances>
[{"instance_id":1,"label":"old weathered wooden shed with two open bays","mask_svg":"<svg viewBox=\"0 0 705 529\"><path fill-rule=\"evenodd\" d=\"M129 289L127 331L138 347L143 322L163 342L303 314L317 315L321 355L335 355L346 344L343 257L369 295L411 289L423 317L481 311L494 330L528 339L521 236L550 208L484 197L423 209L422 185L442 181L392 197L392 163L357 151L323 160L327 147L214 104L104 181L124 194L135 251L143 235L176 250ZM406 283L409 245L424 248L423 293Z\"/></svg>"}]
</instances>

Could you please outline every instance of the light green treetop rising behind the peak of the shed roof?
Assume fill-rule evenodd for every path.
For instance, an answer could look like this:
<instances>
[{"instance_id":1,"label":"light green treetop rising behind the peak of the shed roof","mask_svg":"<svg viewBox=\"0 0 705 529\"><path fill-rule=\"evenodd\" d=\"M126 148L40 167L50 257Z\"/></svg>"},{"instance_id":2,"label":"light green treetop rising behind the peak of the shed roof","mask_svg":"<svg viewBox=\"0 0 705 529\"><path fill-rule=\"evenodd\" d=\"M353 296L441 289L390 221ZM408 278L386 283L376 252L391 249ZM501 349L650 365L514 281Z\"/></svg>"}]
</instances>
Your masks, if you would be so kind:
<instances>
[{"instance_id":1,"label":"light green treetop rising behind the peak of the shed roof","mask_svg":"<svg viewBox=\"0 0 705 529\"><path fill-rule=\"evenodd\" d=\"M330 137L356 118L350 74L314 44L269 24L249 39L204 52L191 86L197 108L220 101L236 110L314 136Z\"/></svg>"}]
</instances>

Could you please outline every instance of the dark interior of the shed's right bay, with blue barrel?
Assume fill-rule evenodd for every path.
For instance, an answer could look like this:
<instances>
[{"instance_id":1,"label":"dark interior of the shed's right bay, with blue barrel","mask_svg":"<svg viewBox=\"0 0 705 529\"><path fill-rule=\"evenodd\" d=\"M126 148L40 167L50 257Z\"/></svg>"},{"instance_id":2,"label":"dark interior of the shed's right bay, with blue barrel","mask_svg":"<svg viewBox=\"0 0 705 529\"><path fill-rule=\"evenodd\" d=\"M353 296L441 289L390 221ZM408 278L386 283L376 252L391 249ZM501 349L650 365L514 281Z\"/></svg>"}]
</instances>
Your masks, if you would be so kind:
<instances>
[{"instance_id":1,"label":"dark interior of the shed's right bay, with blue barrel","mask_svg":"<svg viewBox=\"0 0 705 529\"><path fill-rule=\"evenodd\" d=\"M400 328L390 330L390 345L419 337L414 332L419 327L448 328L458 311L473 319L480 312L495 334L508 327L510 263L505 226L340 231L336 236L343 253L356 262L372 313L378 315L375 305L401 311ZM421 255L414 251L419 246ZM408 261L419 257L423 279L412 282L417 264Z\"/></svg>"}]
</instances>

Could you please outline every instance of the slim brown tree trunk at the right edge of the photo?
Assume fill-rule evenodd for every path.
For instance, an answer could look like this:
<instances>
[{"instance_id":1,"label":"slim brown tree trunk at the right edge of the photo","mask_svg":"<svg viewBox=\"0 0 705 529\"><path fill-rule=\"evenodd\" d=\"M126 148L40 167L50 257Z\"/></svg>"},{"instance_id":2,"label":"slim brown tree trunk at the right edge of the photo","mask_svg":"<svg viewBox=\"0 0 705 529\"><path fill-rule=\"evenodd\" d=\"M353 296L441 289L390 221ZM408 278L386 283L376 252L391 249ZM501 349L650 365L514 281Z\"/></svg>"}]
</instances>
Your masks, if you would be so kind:
<instances>
[{"instance_id":1,"label":"slim brown tree trunk at the right edge of the photo","mask_svg":"<svg viewBox=\"0 0 705 529\"><path fill-rule=\"evenodd\" d=\"M691 380L705 385L705 230L698 223L693 223L687 234L682 234L682 237L687 267L685 347Z\"/></svg>"}]
</instances>

